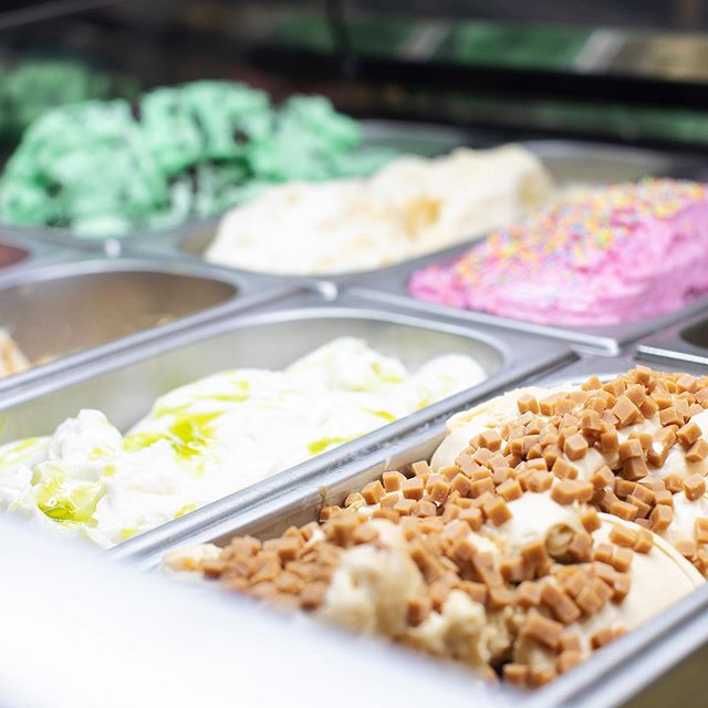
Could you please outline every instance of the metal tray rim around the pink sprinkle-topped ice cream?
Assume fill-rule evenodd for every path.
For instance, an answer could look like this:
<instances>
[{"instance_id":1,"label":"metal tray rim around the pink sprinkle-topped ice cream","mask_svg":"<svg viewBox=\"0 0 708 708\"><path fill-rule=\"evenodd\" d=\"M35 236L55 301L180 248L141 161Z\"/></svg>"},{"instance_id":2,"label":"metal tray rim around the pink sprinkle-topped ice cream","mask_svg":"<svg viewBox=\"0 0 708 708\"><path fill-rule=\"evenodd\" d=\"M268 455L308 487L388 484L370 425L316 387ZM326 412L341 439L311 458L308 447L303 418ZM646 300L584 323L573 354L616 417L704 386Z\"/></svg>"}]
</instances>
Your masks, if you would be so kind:
<instances>
[{"instance_id":1,"label":"metal tray rim around the pink sprinkle-topped ice cream","mask_svg":"<svg viewBox=\"0 0 708 708\"><path fill-rule=\"evenodd\" d=\"M652 332L686 320L708 306L708 296L704 295L697 298L689 305L659 317L649 317L624 324L570 326L513 320L486 312L430 303L424 300L417 300L408 294L408 281L415 271L429 266L438 266L454 261L465 253L465 251L469 249L469 243L456 246L442 252L424 256L414 261L407 261L378 272L363 275L352 284L352 292L362 296L373 298L379 302L405 306L418 312L426 312L431 316L446 315L469 323L490 324L518 332L527 332L529 334L552 336L574 342L591 350L604 351L607 354L617 354L624 345L635 342Z\"/></svg>"}]
</instances>

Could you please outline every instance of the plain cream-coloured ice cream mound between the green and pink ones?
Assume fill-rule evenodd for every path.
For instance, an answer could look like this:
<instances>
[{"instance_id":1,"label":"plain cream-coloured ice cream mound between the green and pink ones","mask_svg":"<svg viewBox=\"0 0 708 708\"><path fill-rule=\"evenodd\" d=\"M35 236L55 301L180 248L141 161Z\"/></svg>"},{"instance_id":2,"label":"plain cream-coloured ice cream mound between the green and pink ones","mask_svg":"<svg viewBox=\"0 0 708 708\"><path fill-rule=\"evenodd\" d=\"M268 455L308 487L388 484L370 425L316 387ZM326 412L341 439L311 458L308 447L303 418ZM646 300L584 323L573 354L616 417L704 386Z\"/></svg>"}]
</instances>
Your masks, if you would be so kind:
<instances>
[{"instance_id":1,"label":"plain cream-coloured ice cream mound between the green and pink ones","mask_svg":"<svg viewBox=\"0 0 708 708\"><path fill-rule=\"evenodd\" d=\"M382 268L481 236L553 194L539 158L519 145L398 157L371 178L268 189L221 219L206 258L290 274Z\"/></svg>"}]
</instances>

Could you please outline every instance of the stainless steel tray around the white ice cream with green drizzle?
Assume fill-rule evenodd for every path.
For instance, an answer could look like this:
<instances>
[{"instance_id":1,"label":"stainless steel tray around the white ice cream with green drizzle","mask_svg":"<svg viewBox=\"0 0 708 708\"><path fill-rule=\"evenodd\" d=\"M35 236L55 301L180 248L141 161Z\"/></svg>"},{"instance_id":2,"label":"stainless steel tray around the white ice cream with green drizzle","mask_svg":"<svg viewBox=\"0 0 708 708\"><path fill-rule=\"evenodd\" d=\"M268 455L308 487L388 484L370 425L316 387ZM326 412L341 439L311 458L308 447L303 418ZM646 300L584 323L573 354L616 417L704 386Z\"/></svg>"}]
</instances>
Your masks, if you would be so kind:
<instances>
[{"instance_id":1,"label":"stainless steel tray around the white ice cream with green drizzle","mask_svg":"<svg viewBox=\"0 0 708 708\"><path fill-rule=\"evenodd\" d=\"M381 354L397 357L413 371L439 354L467 354L478 362L488 378L393 423L379 424L382 427L357 439L342 440L344 444L321 455L311 449L316 455L311 460L197 512L186 513L152 533L173 535L175 528L179 530L180 524L186 523L190 529L192 523L204 520L204 514L206 518L215 513L230 514L233 509L278 496L290 485L316 479L325 469L431 420L444 419L479 396L513 386L532 374L574 358L562 344L540 337L522 339L489 327L460 327L394 309L364 306L346 296L329 301L327 293L313 291L293 295L278 306L262 308L257 313L222 317L173 332L160 340L153 339L110 357L43 377L23 389L9 391L0 400L0 440L49 434L82 408L97 408L113 425L126 430L149 412L157 397L178 386L239 366L283 368L339 336L361 337ZM192 521L194 514L197 519ZM142 538L138 535L134 543L142 543Z\"/></svg>"}]
</instances>

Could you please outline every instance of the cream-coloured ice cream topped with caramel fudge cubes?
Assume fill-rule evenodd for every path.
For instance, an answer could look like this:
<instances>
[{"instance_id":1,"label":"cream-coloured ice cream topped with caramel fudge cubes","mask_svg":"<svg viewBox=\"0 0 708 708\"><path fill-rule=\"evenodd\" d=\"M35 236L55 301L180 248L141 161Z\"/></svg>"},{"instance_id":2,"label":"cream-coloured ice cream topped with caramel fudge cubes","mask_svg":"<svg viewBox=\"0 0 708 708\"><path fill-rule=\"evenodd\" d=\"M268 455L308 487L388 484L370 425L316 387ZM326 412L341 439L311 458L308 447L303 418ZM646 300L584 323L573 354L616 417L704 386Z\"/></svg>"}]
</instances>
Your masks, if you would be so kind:
<instances>
[{"instance_id":1,"label":"cream-coloured ice cream topped with caramel fudge cubes","mask_svg":"<svg viewBox=\"0 0 708 708\"><path fill-rule=\"evenodd\" d=\"M706 408L708 376L642 366L519 389L317 521L165 563L535 688L704 583Z\"/></svg>"}]
</instances>

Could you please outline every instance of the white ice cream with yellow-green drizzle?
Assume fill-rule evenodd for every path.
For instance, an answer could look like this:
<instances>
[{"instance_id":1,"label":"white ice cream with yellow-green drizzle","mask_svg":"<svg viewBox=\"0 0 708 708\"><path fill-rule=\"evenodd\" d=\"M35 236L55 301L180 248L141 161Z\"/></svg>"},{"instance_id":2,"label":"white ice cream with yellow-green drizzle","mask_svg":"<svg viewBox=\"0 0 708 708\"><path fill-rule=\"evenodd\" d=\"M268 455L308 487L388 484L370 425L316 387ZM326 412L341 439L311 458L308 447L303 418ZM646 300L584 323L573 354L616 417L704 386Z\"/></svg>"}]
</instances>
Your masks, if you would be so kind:
<instances>
[{"instance_id":1,"label":"white ice cream with yellow-green drizzle","mask_svg":"<svg viewBox=\"0 0 708 708\"><path fill-rule=\"evenodd\" d=\"M0 509L111 546L485 378L468 356L410 374L364 342L330 342L284 371L239 368L158 398L126 435L81 410L0 447Z\"/></svg>"}]
</instances>

